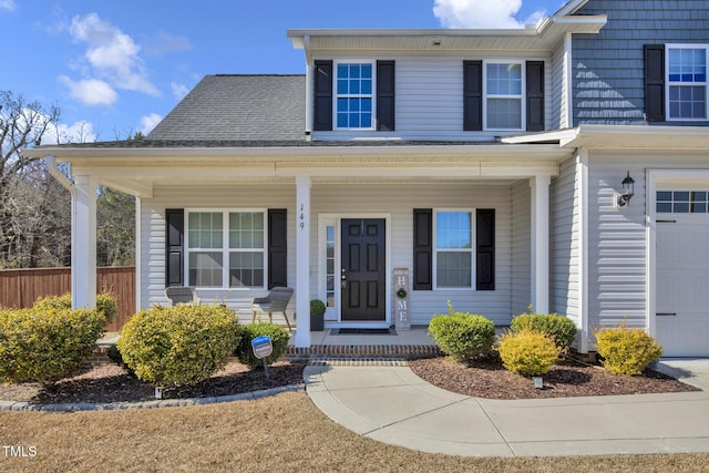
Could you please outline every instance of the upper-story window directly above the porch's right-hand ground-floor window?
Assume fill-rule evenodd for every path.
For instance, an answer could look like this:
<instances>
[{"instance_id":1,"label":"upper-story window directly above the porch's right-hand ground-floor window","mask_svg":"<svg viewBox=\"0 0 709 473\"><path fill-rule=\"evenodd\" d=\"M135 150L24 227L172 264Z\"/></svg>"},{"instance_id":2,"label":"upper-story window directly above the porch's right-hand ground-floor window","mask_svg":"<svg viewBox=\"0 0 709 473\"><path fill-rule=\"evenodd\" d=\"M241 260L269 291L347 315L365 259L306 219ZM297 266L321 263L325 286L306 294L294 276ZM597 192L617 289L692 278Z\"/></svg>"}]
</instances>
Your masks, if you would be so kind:
<instances>
[{"instance_id":1,"label":"upper-story window directly above the porch's right-hand ground-floor window","mask_svg":"<svg viewBox=\"0 0 709 473\"><path fill-rule=\"evenodd\" d=\"M524 76L521 62L485 64L485 128L522 130Z\"/></svg>"}]
</instances>

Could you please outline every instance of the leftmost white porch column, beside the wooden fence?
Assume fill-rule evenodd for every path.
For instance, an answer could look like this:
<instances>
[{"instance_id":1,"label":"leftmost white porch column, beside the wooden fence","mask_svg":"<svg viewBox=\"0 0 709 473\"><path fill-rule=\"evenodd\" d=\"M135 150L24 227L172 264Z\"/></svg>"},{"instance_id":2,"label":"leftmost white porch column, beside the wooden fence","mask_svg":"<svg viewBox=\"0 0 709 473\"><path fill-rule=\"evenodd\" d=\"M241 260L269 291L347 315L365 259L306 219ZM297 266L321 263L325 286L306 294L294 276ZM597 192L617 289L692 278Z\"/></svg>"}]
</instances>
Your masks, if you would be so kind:
<instances>
[{"instance_id":1,"label":"leftmost white porch column, beside the wooden fence","mask_svg":"<svg viewBox=\"0 0 709 473\"><path fill-rule=\"evenodd\" d=\"M96 305L96 181L74 176L71 202L71 307Z\"/></svg>"}]
</instances>

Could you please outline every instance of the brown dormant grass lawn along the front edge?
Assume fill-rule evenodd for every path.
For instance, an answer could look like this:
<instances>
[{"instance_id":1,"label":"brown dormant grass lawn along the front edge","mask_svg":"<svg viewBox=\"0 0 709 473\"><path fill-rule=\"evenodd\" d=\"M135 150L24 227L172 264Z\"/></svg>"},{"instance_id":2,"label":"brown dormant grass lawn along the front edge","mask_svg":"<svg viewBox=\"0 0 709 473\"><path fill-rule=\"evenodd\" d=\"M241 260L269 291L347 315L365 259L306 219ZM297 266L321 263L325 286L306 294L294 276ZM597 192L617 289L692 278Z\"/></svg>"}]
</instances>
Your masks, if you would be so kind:
<instances>
[{"instance_id":1,"label":"brown dormant grass lawn along the front edge","mask_svg":"<svg viewBox=\"0 0 709 473\"><path fill-rule=\"evenodd\" d=\"M2 472L706 472L709 454L474 459L359 436L305 392L189 408L76 413L0 412ZM25 449L25 451L29 451Z\"/></svg>"}]
</instances>

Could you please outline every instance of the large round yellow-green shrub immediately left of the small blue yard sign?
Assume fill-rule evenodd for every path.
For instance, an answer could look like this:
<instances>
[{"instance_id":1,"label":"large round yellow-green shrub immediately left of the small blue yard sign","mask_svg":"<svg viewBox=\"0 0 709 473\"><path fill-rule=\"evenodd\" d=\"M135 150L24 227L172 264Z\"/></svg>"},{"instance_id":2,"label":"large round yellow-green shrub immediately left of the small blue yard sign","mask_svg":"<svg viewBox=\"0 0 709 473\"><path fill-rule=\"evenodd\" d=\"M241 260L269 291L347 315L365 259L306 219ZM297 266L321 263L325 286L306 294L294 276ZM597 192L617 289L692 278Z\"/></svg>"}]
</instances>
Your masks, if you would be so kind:
<instances>
[{"instance_id":1,"label":"large round yellow-green shrub immediately left of the small blue yard sign","mask_svg":"<svg viewBox=\"0 0 709 473\"><path fill-rule=\"evenodd\" d=\"M223 368L238 337L230 310L179 304L141 310L123 326L116 346L138 379L189 385Z\"/></svg>"}]
</instances>

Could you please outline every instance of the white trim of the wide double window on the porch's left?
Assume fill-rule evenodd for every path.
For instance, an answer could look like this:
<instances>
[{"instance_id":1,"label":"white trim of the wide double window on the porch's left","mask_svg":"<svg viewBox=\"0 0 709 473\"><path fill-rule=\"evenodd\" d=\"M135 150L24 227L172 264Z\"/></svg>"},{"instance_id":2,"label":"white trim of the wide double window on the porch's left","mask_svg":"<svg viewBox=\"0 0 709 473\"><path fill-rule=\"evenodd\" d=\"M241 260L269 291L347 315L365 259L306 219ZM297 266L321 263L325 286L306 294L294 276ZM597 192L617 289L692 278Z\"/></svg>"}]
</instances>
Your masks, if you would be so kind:
<instances>
[{"instance_id":1,"label":"white trim of the wide double window on the porch's left","mask_svg":"<svg viewBox=\"0 0 709 473\"><path fill-rule=\"evenodd\" d=\"M185 208L185 232L184 232L184 248L185 248L185 258L184 258L184 280L189 282L189 254L195 253L204 253L213 250L214 253L219 251L219 248L189 248L189 214L198 214L198 213L222 213L223 214L223 228L222 228L222 241L223 247L220 249L223 255L222 260L222 287L216 286L197 286L196 289L199 290L237 290L237 291L247 291L247 290L261 290L266 289L268 286L268 209L267 208ZM264 215L264 248L261 251L264 254L264 285L263 286L254 286L254 287L230 287L229 286L229 253L237 253L238 248L229 248L229 213L260 213ZM246 249L245 249L246 250ZM258 248L248 248L249 253L258 251Z\"/></svg>"}]
</instances>

